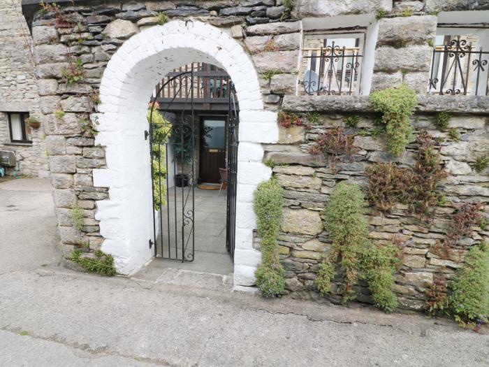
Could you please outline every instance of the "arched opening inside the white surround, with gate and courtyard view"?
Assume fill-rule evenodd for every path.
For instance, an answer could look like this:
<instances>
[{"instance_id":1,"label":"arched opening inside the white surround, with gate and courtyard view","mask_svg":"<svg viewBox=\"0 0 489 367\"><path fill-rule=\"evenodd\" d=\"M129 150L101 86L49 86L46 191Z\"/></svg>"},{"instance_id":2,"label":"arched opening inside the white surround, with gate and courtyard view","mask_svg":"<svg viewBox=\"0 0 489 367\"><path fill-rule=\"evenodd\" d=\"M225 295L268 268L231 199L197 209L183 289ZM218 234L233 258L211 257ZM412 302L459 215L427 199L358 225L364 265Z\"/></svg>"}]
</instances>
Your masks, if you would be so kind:
<instances>
[{"instance_id":1,"label":"arched opening inside the white surround, with gate and courtyard view","mask_svg":"<svg viewBox=\"0 0 489 367\"><path fill-rule=\"evenodd\" d=\"M180 66L156 85L148 122L154 257L233 273L239 105L231 78L210 64Z\"/></svg>"}]
</instances>

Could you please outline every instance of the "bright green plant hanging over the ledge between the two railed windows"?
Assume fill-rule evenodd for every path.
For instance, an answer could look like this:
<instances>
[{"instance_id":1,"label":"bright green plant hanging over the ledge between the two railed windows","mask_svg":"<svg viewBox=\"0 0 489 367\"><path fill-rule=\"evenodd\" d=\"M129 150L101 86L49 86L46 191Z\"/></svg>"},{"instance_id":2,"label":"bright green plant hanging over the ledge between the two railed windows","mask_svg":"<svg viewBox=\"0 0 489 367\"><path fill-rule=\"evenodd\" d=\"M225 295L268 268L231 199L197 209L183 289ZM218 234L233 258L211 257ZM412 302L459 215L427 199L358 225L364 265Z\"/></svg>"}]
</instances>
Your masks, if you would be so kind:
<instances>
[{"instance_id":1,"label":"bright green plant hanging over the ledge between the two railed windows","mask_svg":"<svg viewBox=\"0 0 489 367\"><path fill-rule=\"evenodd\" d=\"M389 151L399 156L411 140L413 128L410 117L418 103L416 92L406 85L382 89L370 94L374 109L382 113L389 137Z\"/></svg>"}]
</instances>

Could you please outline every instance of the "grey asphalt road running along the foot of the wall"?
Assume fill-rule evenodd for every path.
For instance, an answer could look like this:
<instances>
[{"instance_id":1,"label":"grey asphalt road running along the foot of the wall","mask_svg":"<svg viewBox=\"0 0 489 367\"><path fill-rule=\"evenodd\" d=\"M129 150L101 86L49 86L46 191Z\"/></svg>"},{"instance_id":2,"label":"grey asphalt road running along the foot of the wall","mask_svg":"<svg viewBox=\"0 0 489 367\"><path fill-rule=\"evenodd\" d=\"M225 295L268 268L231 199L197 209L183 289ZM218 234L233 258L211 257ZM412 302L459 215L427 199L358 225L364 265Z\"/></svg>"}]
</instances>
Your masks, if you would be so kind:
<instances>
[{"instance_id":1,"label":"grey asphalt road running along the foot of the wall","mask_svg":"<svg viewBox=\"0 0 489 367\"><path fill-rule=\"evenodd\" d=\"M0 366L489 366L446 319L71 271L55 223L47 182L0 184Z\"/></svg>"}]
</instances>

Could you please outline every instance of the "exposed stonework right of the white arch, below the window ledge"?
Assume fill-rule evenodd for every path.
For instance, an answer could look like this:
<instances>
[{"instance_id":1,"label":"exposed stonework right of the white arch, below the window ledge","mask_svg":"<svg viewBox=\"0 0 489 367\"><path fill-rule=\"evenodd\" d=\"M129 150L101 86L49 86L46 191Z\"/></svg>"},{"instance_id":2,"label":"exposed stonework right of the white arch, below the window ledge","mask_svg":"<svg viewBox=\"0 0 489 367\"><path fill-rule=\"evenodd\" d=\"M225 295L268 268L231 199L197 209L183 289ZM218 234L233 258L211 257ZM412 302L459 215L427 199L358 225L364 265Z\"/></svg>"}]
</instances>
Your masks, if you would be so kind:
<instances>
[{"instance_id":1,"label":"exposed stonework right of the white arch, below the window ledge","mask_svg":"<svg viewBox=\"0 0 489 367\"><path fill-rule=\"evenodd\" d=\"M328 97L312 97L322 99L328 103ZM351 99L350 99L351 100ZM346 97L345 103L348 103ZM444 106L442 98L439 99L439 108ZM305 113L307 106L300 107L298 97L287 97L284 101L285 109L294 112L301 110ZM310 110L314 112L314 108ZM346 127L344 118L358 115L358 127ZM275 164L275 175L284 187L286 208L284 210L284 223L279 236L280 254L282 264L286 268L286 290L294 298L319 299L321 296L316 290L314 279L323 254L330 250L328 233L321 224L321 214L328 202L328 197L337 182L346 181L350 184L367 188L368 181L363 175L365 168L377 161L396 162L400 166L413 167L415 164L416 144L412 143L407 152L400 158L388 154L385 134L376 135L374 119L377 117L370 103L364 101L357 107L356 113L321 113L319 122L313 129L294 127L281 128L280 143L268 145L265 157L272 159ZM419 111L411 120L415 134L427 131L440 139L436 149L441 154L441 163L448 173L437 192L443 194L447 203L437 206L430 221L409 213L407 206L397 204L392 210L379 212L369 208L368 224L370 238L383 243L385 241L400 241L403 257L402 266L396 273L395 292L402 308L423 310L426 307L425 292L428 290L435 276L441 273L450 279L454 271L462 266L467 248L488 238L489 231L474 226L472 234L462 239L460 258L440 257L436 250L438 241L443 240L451 225L453 214L461 203L484 203L487 213L489 203L489 168L480 173L473 168L477 157L486 157L489 154L489 117L484 115L469 115L467 113L453 113L449 120L449 127L456 128L460 133L460 141L451 140L446 133L441 133L435 127L435 113ZM314 138L335 127L344 127L345 134L354 136L353 145L358 152L350 160L343 157L337 164L336 171L332 171L328 160L312 159L309 147L314 144ZM359 135L360 134L360 135ZM291 141L295 144L291 145ZM286 164L286 166L280 166ZM336 281L330 300L340 302L339 294L342 292L341 282ZM358 289L360 301L370 302L366 285Z\"/></svg>"}]
</instances>

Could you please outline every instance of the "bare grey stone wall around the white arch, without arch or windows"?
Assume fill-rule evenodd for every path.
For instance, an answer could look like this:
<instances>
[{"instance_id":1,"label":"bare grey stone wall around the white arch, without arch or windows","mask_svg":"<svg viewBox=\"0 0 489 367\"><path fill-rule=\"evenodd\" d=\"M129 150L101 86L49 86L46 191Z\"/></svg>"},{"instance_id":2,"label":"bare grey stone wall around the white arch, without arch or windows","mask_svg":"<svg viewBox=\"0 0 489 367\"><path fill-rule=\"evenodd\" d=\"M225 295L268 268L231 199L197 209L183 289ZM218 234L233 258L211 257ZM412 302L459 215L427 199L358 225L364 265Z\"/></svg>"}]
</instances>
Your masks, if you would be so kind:
<instances>
[{"instance_id":1,"label":"bare grey stone wall around the white arch, without arch or windows","mask_svg":"<svg viewBox=\"0 0 489 367\"><path fill-rule=\"evenodd\" d=\"M335 17L336 15L374 15L384 11L378 21L379 35L374 57L372 89L392 87L406 82L416 89L418 110L412 123L416 131L428 130L441 138L439 150L448 178L438 191L446 196L446 206L435 210L433 224L427 226L409 214L407 207L395 206L390 213L369 213L370 236L374 240L402 240L404 258L397 273L395 292L404 308L424 307L425 290L432 284L434 273L442 269L449 278L461 262L439 259L431 246L444 236L448 218L462 202L489 201L488 168L476 173L472 168L476 158L489 154L488 97L426 96L430 72L431 48L435 35L435 10L460 10L463 1L451 1L451 6L436 1L296 1L292 18L280 20L286 9L282 1L145 1L124 3L75 1L75 8L64 7L80 25L66 27L52 15L36 13L33 36L36 54L36 76L41 96L41 112L47 134L49 162L52 171L54 198L59 218L61 243L66 256L75 248L87 251L99 248L103 242L95 213L101 200L108 198L108 189L94 187L94 168L104 168L105 150L95 146L92 134L82 131L79 121L92 109L87 93L98 89L108 60L128 38L155 27L158 12L164 11L170 20L200 20L224 30L247 50L256 71L261 75L260 87L269 110L286 110L307 115L320 113L319 123L312 131L301 127L281 128L279 143L265 144L263 159L276 164L275 175L285 188L286 208L280 234L282 263L287 271L286 291L293 297L319 298L315 292L316 267L328 250L328 236L323 230L321 210L337 182L346 180L365 187L363 172L375 161L398 161L404 166L414 164L416 145L409 145L400 159L386 152L386 137L377 136L373 124L373 108L367 96L295 96L298 87L298 64L302 41L302 17ZM428 8L439 6L435 10ZM430 8L430 9L431 9ZM477 10L465 6L463 10ZM481 4L480 9L485 5ZM403 13L413 10L414 14ZM73 15L74 12L74 15ZM377 23L376 23L377 24ZM153 40L151 40L153 41ZM130 42L130 41L129 41ZM61 73L69 67L66 50L82 62L85 85L66 85ZM190 60L189 60L190 61ZM156 84L157 80L155 80ZM87 90L87 88L89 90ZM149 98L149 96L148 96ZM55 110L66 114L57 118ZM451 141L445 133L435 130L435 113L450 110L451 127L458 129L461 139ZM339 172L331 171L328 159L318 160L308 152L317 134L332 127L343 126L344 117L358 115L356 129L346 132L354 137L358 147L353 161L345 161ZM257 117L258 118L258 117ZM241 134L261 134L240 131ZM250 156L251 153L247 152ZM239 189L238 189L239 192ZM117 192L116 192L117 194ZM251 195L250 195L251 196ZM69 213L76 205L84 210L82 231L73 228ZM249 219L249 218L247 218ZM134 224L139 225L139 224ZM474 227L465 247L487 238L487 231ZM239 264L241 259L235 259ZM340 283L337 283L340 287ZM361 301L369 301L365 287L360 289ZM337 300L333 296L333 301Z\"/></svg>"}]
</instances>

